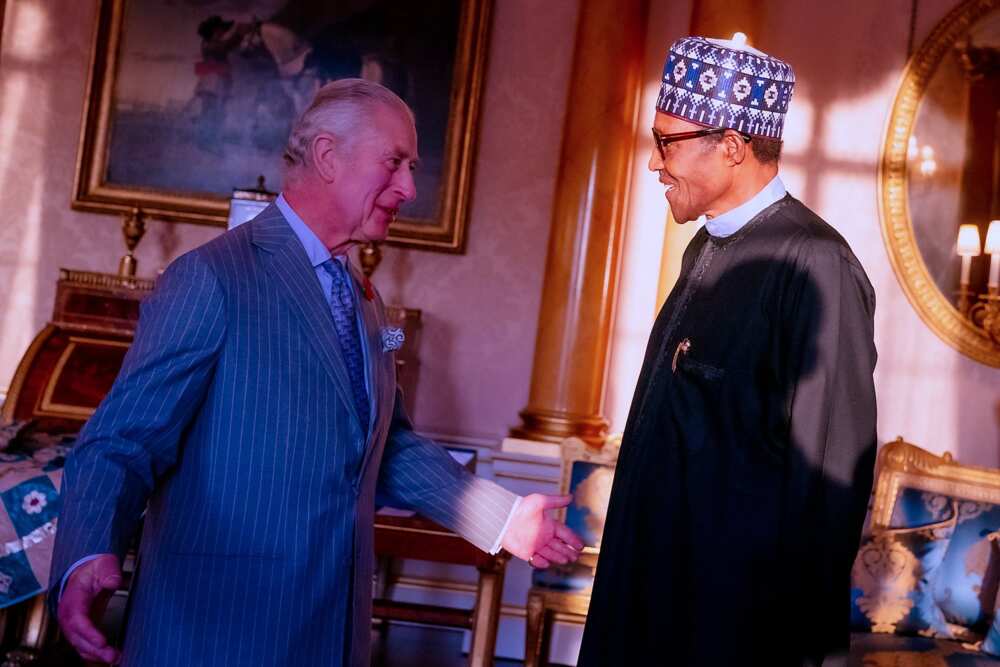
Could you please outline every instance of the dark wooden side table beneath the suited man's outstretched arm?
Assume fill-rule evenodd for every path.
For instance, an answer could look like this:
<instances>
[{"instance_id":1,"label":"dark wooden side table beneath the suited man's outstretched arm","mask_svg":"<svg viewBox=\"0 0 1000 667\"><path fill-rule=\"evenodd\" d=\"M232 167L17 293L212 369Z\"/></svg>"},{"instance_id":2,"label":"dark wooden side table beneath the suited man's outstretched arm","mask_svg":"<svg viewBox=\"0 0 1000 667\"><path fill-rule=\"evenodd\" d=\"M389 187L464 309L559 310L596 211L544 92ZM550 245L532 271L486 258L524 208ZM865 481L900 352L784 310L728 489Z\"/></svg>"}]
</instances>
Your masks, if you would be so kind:
<instances>
[{"instance_id":1,"label":"dark wooden side table beneath the suited man's outstretched arm","mask_svg":"<svg viewBox=\"0 0 1000 667\"><path fill-rule=\"evenodd\" d=\"M500 595L510 556L491 556L440 525L422 517L375 515L375 554L380 558L414 558L437 563L471 565L479 571L472 609L398 602L379 593L372 606L377 619L410 621L472 630L470 667L489 667L497 641ZM388 582L391 590L391 582Z\"/></svg>"}]
</instances>

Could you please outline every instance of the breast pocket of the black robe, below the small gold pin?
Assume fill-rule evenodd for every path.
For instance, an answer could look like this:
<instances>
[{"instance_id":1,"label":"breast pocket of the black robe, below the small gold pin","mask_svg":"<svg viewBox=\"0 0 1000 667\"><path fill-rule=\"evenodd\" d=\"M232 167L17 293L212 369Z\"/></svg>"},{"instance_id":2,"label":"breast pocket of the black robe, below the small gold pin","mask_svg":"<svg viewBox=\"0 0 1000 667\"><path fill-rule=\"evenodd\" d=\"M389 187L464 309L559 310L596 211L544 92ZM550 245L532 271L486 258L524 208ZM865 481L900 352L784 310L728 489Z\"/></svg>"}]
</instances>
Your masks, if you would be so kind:
<instances>
[{"instance_id":1,"label":"breast pocket of the black robe, below the small gold pin","mask_svg":"<svg viewBox=\"0 0 1000 667\"><path fill-rule=\"evenodd\" d=\"M726 371L692 354L683 354L672 372L670 413L677 438L685 449L696 452L714 436Z\"/></svg>"}]
</instances>

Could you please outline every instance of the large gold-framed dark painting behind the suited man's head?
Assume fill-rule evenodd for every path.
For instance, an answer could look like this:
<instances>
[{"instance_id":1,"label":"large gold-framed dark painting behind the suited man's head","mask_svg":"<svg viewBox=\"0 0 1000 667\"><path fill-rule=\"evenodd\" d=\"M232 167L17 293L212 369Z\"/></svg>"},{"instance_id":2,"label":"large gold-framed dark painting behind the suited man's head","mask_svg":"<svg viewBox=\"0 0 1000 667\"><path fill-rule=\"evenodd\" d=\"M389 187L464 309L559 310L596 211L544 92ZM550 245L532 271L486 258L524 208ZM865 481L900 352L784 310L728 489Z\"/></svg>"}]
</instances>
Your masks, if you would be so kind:
<instances>
[{"instance_id":1,"label":"large gold-framed dark painting behind the suited man's head","mask_svg":"<svg viewBox=\"0 0 1000 667\"><path fill-rule=\"evenodd\" d=\"M462 252L491 0L101 0L74 208L225 226L234 188L281 183L315 90L379 81L413 108L417 200L388 241Z\"/></svg>"}]
</instances>

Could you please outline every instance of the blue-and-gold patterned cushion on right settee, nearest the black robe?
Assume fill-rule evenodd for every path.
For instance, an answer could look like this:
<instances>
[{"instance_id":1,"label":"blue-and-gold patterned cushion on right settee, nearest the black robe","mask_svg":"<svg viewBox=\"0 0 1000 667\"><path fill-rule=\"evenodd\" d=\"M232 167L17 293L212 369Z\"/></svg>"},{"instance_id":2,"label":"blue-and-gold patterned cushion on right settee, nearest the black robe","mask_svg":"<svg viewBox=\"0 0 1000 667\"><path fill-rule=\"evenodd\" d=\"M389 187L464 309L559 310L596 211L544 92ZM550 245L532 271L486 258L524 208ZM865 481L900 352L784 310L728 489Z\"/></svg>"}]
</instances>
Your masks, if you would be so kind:
<instances>
[{"instance_id":1,"label":"blue-and-gold patterned cushion on right settee, nearest the black robe","mask_svg":"<svg viewBox=\"0 0 1000 667\"><path fill-rule=\"evenodd\" d=\"M876 529L862 540L851 572L852 629L953 637L935 603L934 583L954 530L952 516L915 528Z\"/></svg>"}]
</instances>

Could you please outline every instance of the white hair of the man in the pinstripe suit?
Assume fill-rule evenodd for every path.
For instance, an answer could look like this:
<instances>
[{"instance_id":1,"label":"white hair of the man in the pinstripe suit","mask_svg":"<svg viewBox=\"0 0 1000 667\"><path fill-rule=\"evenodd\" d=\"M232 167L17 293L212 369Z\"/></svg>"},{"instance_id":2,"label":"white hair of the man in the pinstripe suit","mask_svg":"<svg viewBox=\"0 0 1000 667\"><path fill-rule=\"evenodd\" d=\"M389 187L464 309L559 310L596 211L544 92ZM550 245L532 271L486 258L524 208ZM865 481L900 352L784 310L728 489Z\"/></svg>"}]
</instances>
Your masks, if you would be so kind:
<instances>
[{"instance_id":1,"label":"white hair of the man in the pinstripe suit","mask_svg":"<svg viewBox=\"0 0 1000 667\"><path fill-rule=\"evenodd\" d=\"M292 127L282 156L286 171L310 164L309 147L321 133L333 136L341 150L349 150L361 134L361 125L379 106L397 109L413 121L406 102L374 81L337 79L320 88Z\"/></svg>"}]
</instances>

